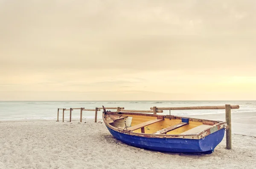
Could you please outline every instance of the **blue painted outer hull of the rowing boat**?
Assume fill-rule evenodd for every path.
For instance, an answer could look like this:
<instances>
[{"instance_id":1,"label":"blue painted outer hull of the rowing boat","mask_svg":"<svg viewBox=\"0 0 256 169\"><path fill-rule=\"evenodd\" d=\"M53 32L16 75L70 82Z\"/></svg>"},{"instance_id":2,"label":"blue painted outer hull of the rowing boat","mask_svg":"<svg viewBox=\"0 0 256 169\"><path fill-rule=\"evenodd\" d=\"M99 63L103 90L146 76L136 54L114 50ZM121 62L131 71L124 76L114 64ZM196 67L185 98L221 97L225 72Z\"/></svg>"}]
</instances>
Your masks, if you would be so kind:
<instances>
[{"instance_id":1,"label":"blue painted outer hull of the rowing boat","mask_svg":"<svg viewBox=\"0 0 256 169\"><path fill-rule=\"evenodd\" d=\"M109 132L118 140L143 149L160 152L201 152L210 154L224 137L224 128L218 130L203 139L184 138L147 138L128 135L112 130L106 126Z\"/></svg>"}]
</instances>

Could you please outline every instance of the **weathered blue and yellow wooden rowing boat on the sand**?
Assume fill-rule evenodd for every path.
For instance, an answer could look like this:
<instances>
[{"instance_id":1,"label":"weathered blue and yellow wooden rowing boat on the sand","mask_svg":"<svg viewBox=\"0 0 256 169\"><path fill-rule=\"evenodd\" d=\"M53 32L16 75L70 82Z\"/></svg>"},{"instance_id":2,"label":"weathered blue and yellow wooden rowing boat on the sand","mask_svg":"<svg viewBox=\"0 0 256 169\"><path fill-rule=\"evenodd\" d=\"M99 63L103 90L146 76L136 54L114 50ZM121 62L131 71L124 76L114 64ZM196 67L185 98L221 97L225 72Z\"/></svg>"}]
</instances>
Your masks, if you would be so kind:
<instances>
[{"instance_id":1,"label":"weathered blue and yellow wooden rowing boat on the sand","mask_svg":"<svg viewBox=\"0 0 256 169\"><path fill-rule=\"evenodd\" d=\"M210 154L224 137L226 122L174 115L111 112L103 107L102 118L118 140L160 152Z\"/></svg>"}]
</instances>

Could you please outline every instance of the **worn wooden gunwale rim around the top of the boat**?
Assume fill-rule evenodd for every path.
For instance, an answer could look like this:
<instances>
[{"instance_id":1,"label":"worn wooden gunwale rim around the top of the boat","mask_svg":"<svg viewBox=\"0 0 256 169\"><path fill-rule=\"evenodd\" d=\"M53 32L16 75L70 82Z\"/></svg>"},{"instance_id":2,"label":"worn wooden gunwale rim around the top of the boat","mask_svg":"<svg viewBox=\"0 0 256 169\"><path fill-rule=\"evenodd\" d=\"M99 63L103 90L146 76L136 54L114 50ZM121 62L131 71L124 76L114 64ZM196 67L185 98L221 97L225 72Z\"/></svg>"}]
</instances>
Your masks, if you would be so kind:
<instances>
[{"instance_id":1,"label":"worn wooden gunwale rim around the top of the boat","mask_svg":"<svg viewBox=\"0 0 256 169\"><path fill-rule=\"evenodd\" d=\"M128 134L128 135L135 135L135 136L140 136L140 137L147 137L147 138L183 138L183 139L204 139L204 137L206 137L207 135L212 134L213 132L216 132L218 130L224 129L227 126L227 122L226 121L214 121L214 120L207 120L207 119L200 119L200 118L188 118L188 117L181 117L181 116L175 116L175 115L160 115L160 116L164 116L164 118L169 118L169 119L181 119L181 118L188 118L190 121L198 121L198 122L203 122L203 121L209 121L209 122L215 122L217 124L214 125L209 125L209 128L203 130L202 132L198 133L198 134L176 134L176 135L172 135L172 134L153 134L153 133L139 133L139 132L132 132L129 130L125 130L125 129L119 129L117 127L113 127L111 124L108 124L105 120L105 115L120 115L120 114L126 114L126 115L145 115L145 116L153 116L153 117L157 117L159 115L157 114L148 114L148 113L127 113L127 112L111 112L111 111L107 111L106 113L102 113L102 119L105 123L105 125L109 128L111 128L112 130L116 131L116 132L120 132L120 133L124 133L124 134ZM211 129L213 129L211 131Z\"/></svg>"}]
</instances>

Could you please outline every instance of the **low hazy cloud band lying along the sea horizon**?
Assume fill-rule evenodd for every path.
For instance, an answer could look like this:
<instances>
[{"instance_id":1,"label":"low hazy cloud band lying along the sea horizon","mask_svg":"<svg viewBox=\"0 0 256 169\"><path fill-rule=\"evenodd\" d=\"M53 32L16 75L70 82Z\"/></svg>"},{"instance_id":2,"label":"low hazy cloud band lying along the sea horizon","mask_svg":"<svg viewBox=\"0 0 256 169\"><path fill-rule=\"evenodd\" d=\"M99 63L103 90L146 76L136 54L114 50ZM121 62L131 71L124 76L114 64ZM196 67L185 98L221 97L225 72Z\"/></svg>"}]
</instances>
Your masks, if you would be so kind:
<instances>
[{"instance_id":1,"label":"low hazy cloud band lying along the sea horizon","mask_svg":"<svg viewBox=\"0 0 256 169\"><path fill-rule=\"evenodd\" d=\"M252 92L244 93L233 93L233 92L207 92L198 93L160 93L151 91L91 91L91 92L69 92L69 91L0 91L1 101L8 100L40 100L40 101L65 101L65 100L76 100L76 101L128 101L128 100L255 100L255 97L251 95ZM224 94L224 95L223 95ZM255 95L256 92L254 91ZM220 95L223 95L221 98ZM50 96L50 97L49 97ZM136 96L136 98L134 98Z\"/></svg>"}]
</instances>

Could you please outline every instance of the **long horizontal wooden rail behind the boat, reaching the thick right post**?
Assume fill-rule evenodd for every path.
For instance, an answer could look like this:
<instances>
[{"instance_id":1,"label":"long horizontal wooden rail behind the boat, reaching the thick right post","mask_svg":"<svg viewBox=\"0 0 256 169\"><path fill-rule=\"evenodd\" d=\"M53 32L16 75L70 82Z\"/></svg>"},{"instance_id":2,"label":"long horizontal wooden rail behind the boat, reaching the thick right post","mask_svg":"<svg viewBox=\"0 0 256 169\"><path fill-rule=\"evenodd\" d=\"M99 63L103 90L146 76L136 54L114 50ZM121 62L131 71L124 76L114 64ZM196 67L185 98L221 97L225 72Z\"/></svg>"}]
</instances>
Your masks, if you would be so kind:
<instances>
[{"instance_id":1,"label":"long horizontal wooden rail behind the boat, reaching the thick right post","mask_svg":"<svg viewBox=\"0 0 256 169\"><path fill-rule=\"evenodd\" d=\"M225 106L192 106L192 107L157 107L157 110L215 110L225 109ZM231 109L239 109L239 105L232 105ZM153 107L150 107L153 110Z\"/></svg>"}]
</instances>

